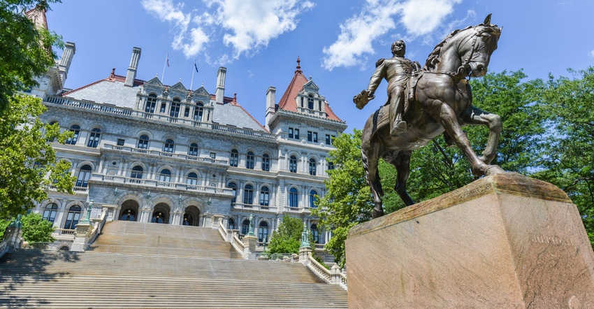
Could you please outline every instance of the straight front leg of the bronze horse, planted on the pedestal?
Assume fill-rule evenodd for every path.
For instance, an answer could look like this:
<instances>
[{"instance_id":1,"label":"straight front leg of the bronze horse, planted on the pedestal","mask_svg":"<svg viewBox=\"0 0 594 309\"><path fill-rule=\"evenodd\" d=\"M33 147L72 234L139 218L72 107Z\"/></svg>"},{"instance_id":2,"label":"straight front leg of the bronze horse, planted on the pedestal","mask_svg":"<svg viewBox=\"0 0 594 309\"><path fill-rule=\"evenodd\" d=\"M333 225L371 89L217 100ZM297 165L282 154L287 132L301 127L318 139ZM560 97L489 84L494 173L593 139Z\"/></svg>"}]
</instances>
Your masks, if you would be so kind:
<instances>
[{"instance_id":1,"label":"straight front leg of the bronze horse, planted on the pedestal","mask_svg":"<svg viewBox=\"0 0 594 309\"><path fill-rule=\"evenodd\" d=\"M454 143L456 143L458 148L462 150L466 159L468 159L468 162L470 162L470 168L472 168L473 175L482 176L493 171L497 173L499 172L498 169L501 170L501 168L498 166L490 166L479 159L475 151L470 147L470 141L468 141L468 138L466 137L466 134L464 134L461 125L458 123L458 117L456 117L456 113L454 113L454 110L452 110L450 106L448 106L446 103L442 103L439 110L437 110L437 113L434 112L433 114L433 117L435 117L435 119L437 119L437 121L442 124L447 134L451 136L451 138L454 140ZM495 169L493 170L493 168Z\"/></svg>"}]
</instances>

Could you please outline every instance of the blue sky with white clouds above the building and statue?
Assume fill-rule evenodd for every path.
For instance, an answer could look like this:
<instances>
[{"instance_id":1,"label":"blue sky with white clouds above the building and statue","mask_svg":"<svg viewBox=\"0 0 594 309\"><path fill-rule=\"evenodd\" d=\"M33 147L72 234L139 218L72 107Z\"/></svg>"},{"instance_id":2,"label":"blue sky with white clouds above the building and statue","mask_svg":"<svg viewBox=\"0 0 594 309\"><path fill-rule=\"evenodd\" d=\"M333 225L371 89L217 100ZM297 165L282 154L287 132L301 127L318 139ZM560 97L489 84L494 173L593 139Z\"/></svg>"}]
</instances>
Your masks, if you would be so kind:
<instances>
[{"instance_id":1,"label":"blue sky with white clouds above the building and statue","mask_svg":"<svg viewBox=\"0 0 594 309\"><path fill-rule=\"evenodd\" d=\"M591 0L62 0L47 18L50 30L76 44L68 88L107 78L114 67L125 76L136 46L142 80L161 78L168 54L164 83L181 78L189 88L196 61L192 88L214 93L225 66L225 95L237 93L263 124L266 90L276 87L278 101L300 57L350 132L386 99L384 82L362 111L352 103L396 39L407 43L406 57L423 64L446 34L493 13L503 31L489 71L568 76L567 68L594 65L593 11Z\"/></svg>"}]
</instances>

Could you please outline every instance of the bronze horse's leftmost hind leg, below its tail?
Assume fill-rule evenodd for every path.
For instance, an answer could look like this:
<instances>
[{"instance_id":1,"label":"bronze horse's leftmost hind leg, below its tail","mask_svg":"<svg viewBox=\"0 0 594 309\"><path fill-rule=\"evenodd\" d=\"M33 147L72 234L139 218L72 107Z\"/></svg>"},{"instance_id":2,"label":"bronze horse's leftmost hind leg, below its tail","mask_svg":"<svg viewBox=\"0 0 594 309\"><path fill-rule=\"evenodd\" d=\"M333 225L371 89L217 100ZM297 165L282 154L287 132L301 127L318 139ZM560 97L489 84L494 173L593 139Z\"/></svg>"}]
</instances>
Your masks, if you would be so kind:
<instances>
[{"instance_id":1,"label":"bronze horse's leftmost hind leg, below its tail","mask_svg":"<svg viewBox=\"0 0 594 309\"><path fill-rule=\"evenodd\" d=\"M371 213L373 219L384 215L384 208L382 207L382 196L384 196L384 191L382 190L382 182L379 182L379 169L377 168L379 147L379 143L365 141L365 136L363 136L361 159L363 161L363 168L365 169L365 176L367 177L367 182L373 196L373 203L375 204L375 208L373 208Z\"/></svg>"}]
</instances>

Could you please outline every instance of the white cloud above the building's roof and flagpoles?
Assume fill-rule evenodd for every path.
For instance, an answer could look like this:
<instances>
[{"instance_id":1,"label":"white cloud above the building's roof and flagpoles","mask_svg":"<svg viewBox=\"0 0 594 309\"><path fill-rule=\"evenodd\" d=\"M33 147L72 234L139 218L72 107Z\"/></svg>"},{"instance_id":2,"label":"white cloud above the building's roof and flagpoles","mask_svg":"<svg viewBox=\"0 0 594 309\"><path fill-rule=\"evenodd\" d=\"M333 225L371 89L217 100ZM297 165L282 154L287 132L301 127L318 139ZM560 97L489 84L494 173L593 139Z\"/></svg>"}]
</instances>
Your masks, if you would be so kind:
<instances>
[{"instance_id":1,"label":"white cloud above the building's roof and flagpoles","mask_svg":"<svg viewBox=\"0 0 594 309\"><path fill-rule=\"evenodd\" d=\"M192 13L184 13L184 3L176 5L173 0L143 0L142 4L149 13L173 24L172 47L186 57L205 52L208 43L222 41L233 49L233 59L253 54L270 40L294 30L298 16L314 7L312 1L299 0L203 1L204 6ZM220 55L216 61L230 62L231 57Z\"/></svg>"}]
</instances>

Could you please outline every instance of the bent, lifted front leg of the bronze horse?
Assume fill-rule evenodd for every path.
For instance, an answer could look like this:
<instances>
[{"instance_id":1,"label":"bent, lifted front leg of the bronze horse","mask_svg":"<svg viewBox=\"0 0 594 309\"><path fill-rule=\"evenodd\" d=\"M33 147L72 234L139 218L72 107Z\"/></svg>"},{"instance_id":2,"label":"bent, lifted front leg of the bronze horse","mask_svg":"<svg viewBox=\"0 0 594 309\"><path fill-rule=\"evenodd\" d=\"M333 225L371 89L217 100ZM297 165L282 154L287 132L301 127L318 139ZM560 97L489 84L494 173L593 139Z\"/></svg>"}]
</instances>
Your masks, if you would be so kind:
<instances>
[{"instance_id":1,"label":"bent, lifted front leg of the bronze horse","mask_svg":"<svg viewBox=\"0 0 594 309\"><path fill-rule=\"evenodd\" d=\"M499 144L499 136L503 127L501 117L472 106L472 108L462 113L461 118L464 124L484 125L488 127L487 145L483 151L483 155L479 159L485 164L491 163L495 159L495 155L497 155L497 145Z\"/></svg>"}]
</instances>

